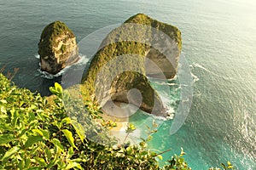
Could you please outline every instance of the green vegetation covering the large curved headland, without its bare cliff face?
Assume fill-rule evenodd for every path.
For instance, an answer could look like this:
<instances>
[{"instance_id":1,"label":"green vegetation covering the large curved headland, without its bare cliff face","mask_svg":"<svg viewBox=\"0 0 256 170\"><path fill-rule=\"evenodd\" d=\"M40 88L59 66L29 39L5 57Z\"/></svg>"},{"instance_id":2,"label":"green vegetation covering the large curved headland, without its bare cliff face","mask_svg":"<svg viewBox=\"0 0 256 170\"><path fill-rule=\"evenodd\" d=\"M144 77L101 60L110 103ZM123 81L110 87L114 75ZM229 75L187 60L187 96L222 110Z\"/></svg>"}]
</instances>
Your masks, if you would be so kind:
<instances>
[{"instance_id":1,"label":"green vegetation covering the large curved headland, without its bare cliff face","mask_svg":"<svg viewBox=\"0 0 256 170\"><path fill-rule=\"evenodd\" d=\"M174 65L171 65L172 68L168 67L174 70L172 71L174 74L171 75L174 77L177 72L178 54L182 47L180 31L177 27L153 20L146 14L136 14L126 20L122 26L111 31L103 40L102 48L94 55L88 71L84 74L82 80L84 94L91 96L90 99L95 105L102 103L102 100L106 101L109 95L113 101L127 103L125 93L136 88L143 97L142 105L138 105L141 110L166 116L160 96L151 87L145 70L146 56L152 48L151 44L156 41L155 34L158 36L160 31L165 32L178 46L177 56L173 56ZM113 75L116 77L112 77ZM108 87L109 83L111 87ZM144 85L143 88L140 87L141 84ZM96 86L101 90L97 90ZM99 91L100 93L96 94ZM137 102L132 104L137 105Z\"/></svg>"}]
</instances>

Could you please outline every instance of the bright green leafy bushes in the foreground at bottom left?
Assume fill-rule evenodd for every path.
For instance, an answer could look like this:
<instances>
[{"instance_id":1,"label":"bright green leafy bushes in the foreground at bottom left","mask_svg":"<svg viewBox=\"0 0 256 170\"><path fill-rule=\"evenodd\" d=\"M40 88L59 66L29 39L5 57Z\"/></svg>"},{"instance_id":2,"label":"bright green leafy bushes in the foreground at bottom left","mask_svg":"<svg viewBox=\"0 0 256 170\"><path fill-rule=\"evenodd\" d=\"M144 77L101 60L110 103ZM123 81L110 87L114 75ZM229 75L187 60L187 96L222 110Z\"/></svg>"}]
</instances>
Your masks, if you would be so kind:
<instances>
[{"instance_id":1,"label":"bright green leafy bushes in the foreground at bottom left","mask_svg":"<svg viewBox=\"0 0 256 170\"><path fill-rule=\"evenodd\" d=\"M150 138L115 148L87 139L67 116L58 84L45 99L0 73L0 89L0 169L160 169L160 155L146 147ZM190 169L183 155L163 168Z\"/></svg>"}]
</instances>

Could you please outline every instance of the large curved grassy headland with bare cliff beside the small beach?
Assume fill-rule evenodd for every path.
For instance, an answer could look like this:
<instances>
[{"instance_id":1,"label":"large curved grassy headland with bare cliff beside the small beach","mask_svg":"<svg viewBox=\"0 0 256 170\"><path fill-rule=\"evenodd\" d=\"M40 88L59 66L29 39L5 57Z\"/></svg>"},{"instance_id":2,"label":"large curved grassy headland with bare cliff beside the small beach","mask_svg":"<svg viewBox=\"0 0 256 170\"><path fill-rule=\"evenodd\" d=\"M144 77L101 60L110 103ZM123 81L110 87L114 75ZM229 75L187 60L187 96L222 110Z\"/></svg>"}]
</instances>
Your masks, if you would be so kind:
<instances>
[{"instance_id":1,"label":"large curved grassy headland with bare cliff beside the small beach","mask_svg":"<svg viewBox=\"0 0 256 170\"><path fill-rule=\"evenodd\" d=\"M174 77L180 51L176 27L136 14L103 40L83 77L84 92L101 106L112 100L166 116L160 96L147 77Z\"/></svg>"}]
</instances>

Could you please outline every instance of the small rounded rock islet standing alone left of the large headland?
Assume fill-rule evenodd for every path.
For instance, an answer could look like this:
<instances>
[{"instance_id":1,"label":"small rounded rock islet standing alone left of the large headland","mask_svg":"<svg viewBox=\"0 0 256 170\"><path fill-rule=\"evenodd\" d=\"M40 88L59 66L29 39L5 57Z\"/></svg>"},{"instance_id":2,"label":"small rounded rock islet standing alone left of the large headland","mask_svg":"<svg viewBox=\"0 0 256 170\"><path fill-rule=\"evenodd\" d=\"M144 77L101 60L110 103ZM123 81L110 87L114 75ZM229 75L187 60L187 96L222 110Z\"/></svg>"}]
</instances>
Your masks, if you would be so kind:
<instances>
[{"instance_id":1,"label":"small rounded rock islet standing alone left of the large headland","mask_svg":"<svg viewBox=\"0 0 256 170\"><path fill-rule=\"evenodd\" d=\"M55 21L44 28L38 48L41 70L50 74L56 74L79 60L76 37L61 21Z\"/></svg>"}]
</instances>

